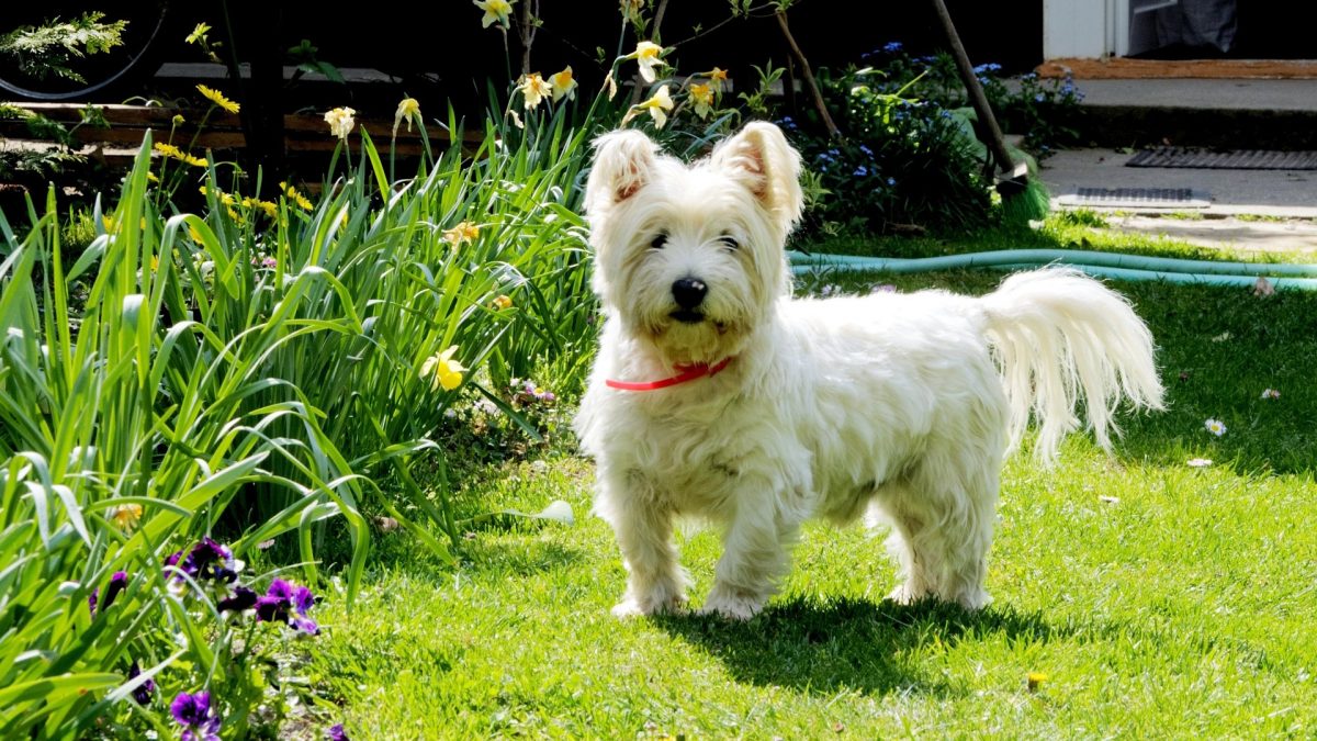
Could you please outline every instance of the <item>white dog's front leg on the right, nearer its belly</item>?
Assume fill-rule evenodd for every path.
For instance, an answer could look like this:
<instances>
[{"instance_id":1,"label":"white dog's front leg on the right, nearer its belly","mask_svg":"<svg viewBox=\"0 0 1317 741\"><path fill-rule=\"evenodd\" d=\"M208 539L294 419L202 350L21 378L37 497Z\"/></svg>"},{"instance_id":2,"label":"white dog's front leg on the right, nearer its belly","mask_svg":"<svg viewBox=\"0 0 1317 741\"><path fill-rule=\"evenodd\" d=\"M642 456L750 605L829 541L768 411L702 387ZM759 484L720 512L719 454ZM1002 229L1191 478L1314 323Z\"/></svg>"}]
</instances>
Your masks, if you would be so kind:
<instances>
[{"instance_id":1,"label":"white dog's front leg on the right, nearer its belly","mask_svg":"<svg viewBox=\"0 0 1317 741\"><path fill-rule=\"evenodd\" d=\"M736 502L714 588L701 614L749 620L764 609L789 566L788 547L795 542L803 513L790 498L766 487Z\"/></svg>"}]
</instances>

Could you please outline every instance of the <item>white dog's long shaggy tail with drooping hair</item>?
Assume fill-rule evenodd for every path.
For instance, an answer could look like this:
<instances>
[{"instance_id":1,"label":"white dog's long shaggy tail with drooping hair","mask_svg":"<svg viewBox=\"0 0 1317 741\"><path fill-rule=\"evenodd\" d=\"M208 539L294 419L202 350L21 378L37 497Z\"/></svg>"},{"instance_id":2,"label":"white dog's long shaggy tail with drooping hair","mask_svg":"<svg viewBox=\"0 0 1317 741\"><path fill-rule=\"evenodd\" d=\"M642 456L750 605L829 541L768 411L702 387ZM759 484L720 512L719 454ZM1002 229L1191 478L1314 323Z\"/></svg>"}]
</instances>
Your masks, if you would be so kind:
<instances>
[{"instance_id":1,"label":"white dog's long shaggy tail with drooping hair","mask_svg":"<svg viewBox=\"0 0 1317 741\"><path fill-rule=\"evenodd\" d=\"M1056 458L1079 427L1080 396L1093 436L1110 452L1113 414L1121 400L1162 409L1152 335L1129 301L1071 268L1017 273L982 297L986 336L997 355L1010 403L1010 450L1038 422L1035 452Z\"/></svg>"}]
</instances>

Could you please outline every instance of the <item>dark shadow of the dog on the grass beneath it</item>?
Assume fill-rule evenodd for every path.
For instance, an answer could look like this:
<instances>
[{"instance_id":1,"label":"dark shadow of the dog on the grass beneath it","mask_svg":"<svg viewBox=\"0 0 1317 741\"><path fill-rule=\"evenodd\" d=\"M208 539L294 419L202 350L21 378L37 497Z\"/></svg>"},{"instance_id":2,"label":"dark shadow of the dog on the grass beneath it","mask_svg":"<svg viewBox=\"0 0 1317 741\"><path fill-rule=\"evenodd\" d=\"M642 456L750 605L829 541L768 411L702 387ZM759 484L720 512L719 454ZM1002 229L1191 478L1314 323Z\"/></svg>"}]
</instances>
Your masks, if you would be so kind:
<instances>
[{"instance_id":1,"label":"dark shadow of the dog on the grass beneath it","mask_svg":"<svg viewBox=\"0 0 1317 741\"><path fill-rule=\"evenodd\" d=\"M911 654L961 636L1005 634L1047 641L1058 636L1039 614L1009 608L969 612L925 601L839 599L818 603L794 597L769 605L748 622L709 616L658 616L653 624L718 657L738 682L789 687L802 692L851 690L864 695L960 692L944 678L921 668Z\"/></svg>"}]
</instances>

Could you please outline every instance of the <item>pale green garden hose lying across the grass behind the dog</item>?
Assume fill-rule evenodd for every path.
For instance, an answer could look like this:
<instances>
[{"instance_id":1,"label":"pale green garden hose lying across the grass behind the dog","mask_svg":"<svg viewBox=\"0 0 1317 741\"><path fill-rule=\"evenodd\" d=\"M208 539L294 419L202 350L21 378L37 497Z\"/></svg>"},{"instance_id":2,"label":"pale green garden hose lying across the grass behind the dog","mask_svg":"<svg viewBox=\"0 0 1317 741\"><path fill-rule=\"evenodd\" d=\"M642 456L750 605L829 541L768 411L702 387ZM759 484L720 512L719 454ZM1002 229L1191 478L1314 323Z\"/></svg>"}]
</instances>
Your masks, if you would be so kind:
<instances>
[{"instance_id":1,"label":"pale green garden hose lying across the grass behind the dog","mask_svg":"<svg viewBox=\"0 0 1317 741\"><path fill-rule=\"evenodd\" d=\"M1081 249L1002 249L911 260L851 254L805 254L794 251L788 252L788 256L792 260L793 272L797 274L819 269L886 273L923 273L961 268L1018 270L1062 264L1083 270L1089 276L1118 278L1122 281L1166 281L1169 283L1247 287L1255 285L1259 276L1266 276L1275 289L1317 290L1317 265L1214 262L1210 260L1142 257Z\"/></svg>"}]
</instances>

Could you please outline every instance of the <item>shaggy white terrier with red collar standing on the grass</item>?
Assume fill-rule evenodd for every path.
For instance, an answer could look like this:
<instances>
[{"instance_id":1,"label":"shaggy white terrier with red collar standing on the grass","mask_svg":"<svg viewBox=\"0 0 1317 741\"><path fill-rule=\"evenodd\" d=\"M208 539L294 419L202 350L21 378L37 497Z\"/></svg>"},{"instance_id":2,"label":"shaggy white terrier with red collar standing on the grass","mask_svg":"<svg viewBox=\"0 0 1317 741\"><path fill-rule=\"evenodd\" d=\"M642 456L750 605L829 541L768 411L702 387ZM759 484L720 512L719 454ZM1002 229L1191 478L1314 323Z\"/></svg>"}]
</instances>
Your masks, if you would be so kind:
<instances>
[{"instance_id":1,"label":"shaggy white terrier with red collar standing on the grass","mask_svg":"<svg viewBox=\"0 0 1317 741\"><path fill-rule=\"evenodd\" d=\"M772 124L689 166L635 131L595 148L586 214L607 320L576 427L628 572L614 614L684 608L678 516L726 523L705 613L752 617L807 517L865 513L892 526L893 599L982 607L1001 463L1030 410L1050 459L1079 397L1108 450L1122 398L1160 407L1147 327L1076 270L982 298L793 299L801 165Z\"/></svg>"}]
</instances>

